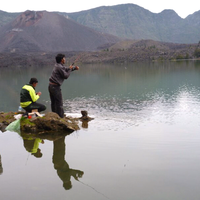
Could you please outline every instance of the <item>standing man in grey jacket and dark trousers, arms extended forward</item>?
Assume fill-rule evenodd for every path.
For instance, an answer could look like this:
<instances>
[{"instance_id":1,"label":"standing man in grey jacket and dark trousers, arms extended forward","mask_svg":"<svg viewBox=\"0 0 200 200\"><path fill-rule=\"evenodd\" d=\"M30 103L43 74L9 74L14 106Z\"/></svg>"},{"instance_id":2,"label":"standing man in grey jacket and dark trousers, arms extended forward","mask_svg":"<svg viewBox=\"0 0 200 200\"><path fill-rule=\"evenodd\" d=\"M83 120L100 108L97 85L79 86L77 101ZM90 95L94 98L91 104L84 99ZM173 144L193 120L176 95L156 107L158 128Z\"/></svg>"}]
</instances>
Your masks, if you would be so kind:
<instances>
[{"instance_id":1,"label":"standing man in grey jacket and dark trousers, arms extended forward","mask_svg":"<svg viewBox=\"0 0 200 200\"><path fill-rule=\"evenodd\" d=\"M56 56L56 64L53 68L51 77L49 78L49 95L51 99L51 110L57 113L61 118L64 117L63 99L61 85L64 80L70 76L74 70L78 70L78 66L65 67L65 55L58 54Z\"/></svg>"}]
</instances>

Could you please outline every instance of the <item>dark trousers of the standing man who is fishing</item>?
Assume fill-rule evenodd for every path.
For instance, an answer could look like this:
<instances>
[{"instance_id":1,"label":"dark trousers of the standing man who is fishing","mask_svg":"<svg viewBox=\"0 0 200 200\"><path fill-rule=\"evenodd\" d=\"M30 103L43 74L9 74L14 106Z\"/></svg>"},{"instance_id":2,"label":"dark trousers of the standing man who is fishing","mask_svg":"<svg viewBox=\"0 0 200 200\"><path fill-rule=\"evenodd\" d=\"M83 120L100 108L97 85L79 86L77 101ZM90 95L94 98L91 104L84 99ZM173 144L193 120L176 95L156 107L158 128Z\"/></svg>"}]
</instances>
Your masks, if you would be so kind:
<instances>
[{"instance_id":1,"label":"dark trousers of the standing man who is fishing","mask_svg":"<svg viewBox=\"0 0 200 200\"><path fill-rule=\"evenodd\" d=\"M49 95L51 99L51 111L63 118L63 98L60 86L49 84Z\"/></svg>"}]
</instances>

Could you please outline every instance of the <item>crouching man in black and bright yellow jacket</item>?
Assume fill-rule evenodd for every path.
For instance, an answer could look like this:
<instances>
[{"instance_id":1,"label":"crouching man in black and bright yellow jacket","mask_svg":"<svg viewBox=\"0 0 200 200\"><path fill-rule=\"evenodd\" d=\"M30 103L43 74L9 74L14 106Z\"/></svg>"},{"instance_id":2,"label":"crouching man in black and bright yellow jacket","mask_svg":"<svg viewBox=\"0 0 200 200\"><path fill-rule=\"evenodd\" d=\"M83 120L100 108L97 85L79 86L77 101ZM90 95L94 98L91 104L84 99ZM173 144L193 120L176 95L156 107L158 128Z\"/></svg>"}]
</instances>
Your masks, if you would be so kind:
<instances>
[{"instance_id":1,"label":"crouching man in black and bright yellow jacket","mask_svg":"<svg viewBox=\"0 0 200 200\"><path fill-rule=\"evenodd\" d=\"M35 92L35 87L38 84L36 78L31 78L29 84L22 87L20 92L20 106L26 110L26 112L32 112L34 109L38 109L38 112L46 110L46 106L36 101L40 98L41 92Z\"/></svg>"}]
</instances>

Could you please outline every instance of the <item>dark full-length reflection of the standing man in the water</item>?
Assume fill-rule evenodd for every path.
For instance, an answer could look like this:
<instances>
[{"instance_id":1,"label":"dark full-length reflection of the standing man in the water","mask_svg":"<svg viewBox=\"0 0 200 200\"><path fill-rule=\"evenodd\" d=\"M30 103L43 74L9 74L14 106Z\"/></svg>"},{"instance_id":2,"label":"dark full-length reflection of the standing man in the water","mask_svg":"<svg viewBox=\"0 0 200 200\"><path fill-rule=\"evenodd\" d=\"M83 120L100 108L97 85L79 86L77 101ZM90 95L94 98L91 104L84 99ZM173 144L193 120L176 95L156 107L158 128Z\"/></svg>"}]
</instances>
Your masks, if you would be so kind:
<instances>
[{"instance_id":1,"label":"dark full-length reflection of the standing man in the water","mask_svg":"<svg viewBox=\"0 0 200 200\"><path fill-rule=\"evenodd\" d=\"M53 142L54 169L56 169L59 178L63 181L63 187L66 190L72 188L71 176L78 181L84 174L83 171L71 169L65 161L65 136Z\"/></svg>"}]
</instances>

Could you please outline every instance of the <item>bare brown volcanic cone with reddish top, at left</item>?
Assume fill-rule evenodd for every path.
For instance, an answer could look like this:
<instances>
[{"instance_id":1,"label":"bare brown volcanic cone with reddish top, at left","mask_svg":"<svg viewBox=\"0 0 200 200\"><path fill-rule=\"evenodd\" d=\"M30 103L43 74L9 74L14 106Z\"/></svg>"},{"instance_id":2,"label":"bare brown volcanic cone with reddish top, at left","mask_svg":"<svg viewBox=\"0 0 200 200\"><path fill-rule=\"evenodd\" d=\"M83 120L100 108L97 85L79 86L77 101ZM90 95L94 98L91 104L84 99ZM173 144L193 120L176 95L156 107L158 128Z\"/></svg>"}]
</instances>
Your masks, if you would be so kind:
<instances>
[{"instance_id":1,"label":"bare brown volcanic cone with reddish top, at left","mask_svg":"<svg viewBox=\"0 0 200 200\"><path fill-rule=\"evenodd\" d=\"M92 51L119 41L46 11L26 11L0 28L1 52Z\"/></svg>"}]
</instances>

